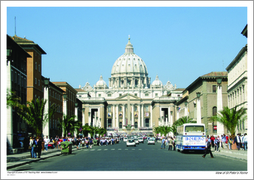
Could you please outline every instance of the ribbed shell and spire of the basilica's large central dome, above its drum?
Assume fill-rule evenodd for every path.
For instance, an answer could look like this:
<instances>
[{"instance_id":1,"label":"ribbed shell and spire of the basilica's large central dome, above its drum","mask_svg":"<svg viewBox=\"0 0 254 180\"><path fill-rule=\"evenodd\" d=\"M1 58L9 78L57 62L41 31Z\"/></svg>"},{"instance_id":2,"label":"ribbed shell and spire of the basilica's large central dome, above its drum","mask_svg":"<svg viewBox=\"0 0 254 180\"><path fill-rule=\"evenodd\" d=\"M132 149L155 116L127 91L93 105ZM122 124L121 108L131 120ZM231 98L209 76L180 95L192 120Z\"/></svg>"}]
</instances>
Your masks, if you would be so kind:
<instances>
[{"instance_id":1,"label":"ribbed shell and spire of the basilica's large central dome, above its drum","mask_svg":"<svg viewBox=\"0 0 254 180\"><path fill-rule=\"evenodd\" d=\"M145 62L134 53L134 48L129 38L125 53L115 61L112 67L111 77L132 76L134 74L147 76L148 71Z\"/></svg>"}]
</instances>

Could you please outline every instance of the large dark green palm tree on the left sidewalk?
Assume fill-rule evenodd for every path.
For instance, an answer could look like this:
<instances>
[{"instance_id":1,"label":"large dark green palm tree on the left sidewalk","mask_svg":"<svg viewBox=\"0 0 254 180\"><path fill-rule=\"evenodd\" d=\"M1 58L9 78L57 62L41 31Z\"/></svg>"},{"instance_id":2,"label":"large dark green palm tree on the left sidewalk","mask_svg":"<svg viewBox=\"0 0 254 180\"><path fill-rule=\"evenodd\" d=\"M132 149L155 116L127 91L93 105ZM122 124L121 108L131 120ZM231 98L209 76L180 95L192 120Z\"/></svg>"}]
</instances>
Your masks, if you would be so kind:
<instances>
[{"instance_id":1,"label":"large dark green palm tree on the left sidewalk","mask_svg":"<svg viewBox=\"0 0 254 180\"><path fill-rule=\"evenodd\" d=\"M27 102L27 105L18 105L17 114L35 130L37 136L41 136L42 126L49 121L57 110L57 106L52 104L48 113L44 113L46 102L47 100L36 99Z\"/></svg>"}]
</instances>

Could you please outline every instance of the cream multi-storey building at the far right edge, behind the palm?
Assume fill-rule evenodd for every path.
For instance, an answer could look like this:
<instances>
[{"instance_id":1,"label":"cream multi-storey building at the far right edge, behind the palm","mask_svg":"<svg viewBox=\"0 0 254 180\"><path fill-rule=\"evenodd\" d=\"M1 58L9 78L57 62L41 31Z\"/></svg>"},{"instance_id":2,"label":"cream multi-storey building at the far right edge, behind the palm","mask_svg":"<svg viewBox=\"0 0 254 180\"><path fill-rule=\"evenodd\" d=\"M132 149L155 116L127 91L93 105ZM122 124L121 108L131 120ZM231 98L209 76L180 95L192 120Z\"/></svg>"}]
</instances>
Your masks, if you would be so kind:
<instances>
[{"instance_id":1,"label":"cream multi-storey building at the far right edge, behind the palm","mask_svg":"<svg viewBox=\"0 0 254 180\"><path fill-rule=\"evenodd\" d=\"M241 32L247 38L248 25ZM228 65L228 107L240 109L241 107L248 110L248 45L244 46L236 55L234 60ZM247 133L248 121L240 120L236 133Z\"/></svg>"}]
</instances>

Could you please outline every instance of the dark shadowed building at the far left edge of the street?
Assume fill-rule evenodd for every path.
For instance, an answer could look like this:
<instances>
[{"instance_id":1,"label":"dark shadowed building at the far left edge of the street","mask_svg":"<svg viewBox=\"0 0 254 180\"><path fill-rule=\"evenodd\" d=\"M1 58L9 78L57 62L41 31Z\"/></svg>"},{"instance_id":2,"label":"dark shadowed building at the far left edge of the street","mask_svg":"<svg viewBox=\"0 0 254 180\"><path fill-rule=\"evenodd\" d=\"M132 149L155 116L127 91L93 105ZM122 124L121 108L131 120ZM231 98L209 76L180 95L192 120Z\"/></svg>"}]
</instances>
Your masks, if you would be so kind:
<instances>
[{"instance_id":1,"label":"dark shadowed building at the far left edge of the street","mask_svg":"<svg viewBox=\"0 0 254 180\"><path fill-rule=\"evenodd\" d=\"M15 92L21 104L26 104L27 58L31 56L7 35L7 92ZM12 107L7 107L7 152L21 148L27 137L27 124Z\"/></svg>"}]
</instances>

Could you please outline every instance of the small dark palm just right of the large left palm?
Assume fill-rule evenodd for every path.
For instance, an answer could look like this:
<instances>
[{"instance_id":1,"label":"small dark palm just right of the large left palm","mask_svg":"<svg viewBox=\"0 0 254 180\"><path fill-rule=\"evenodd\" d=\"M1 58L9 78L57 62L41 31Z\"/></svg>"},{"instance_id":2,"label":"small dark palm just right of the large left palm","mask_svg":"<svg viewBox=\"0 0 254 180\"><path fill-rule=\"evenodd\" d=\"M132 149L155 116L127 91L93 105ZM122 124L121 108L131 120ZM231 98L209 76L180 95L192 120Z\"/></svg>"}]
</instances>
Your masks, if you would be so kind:
<instances>
[{"instance_id":1,"label":"small dark palm just right of the large left palm","mask_svg":"<svg viewBox=\"0 0 254 180\"><path fill-rule=\"evenodd\" d=\"M64 137L66 137L68 133L74 133L75 128L80 127L79 121L75 121L75 115L64 115L63 119L59 120L59 122L59 127L62 128Z\"/></svg>"}]
</instances>

